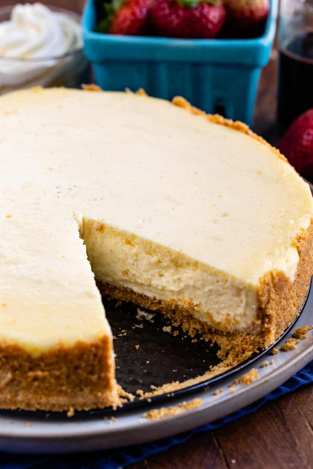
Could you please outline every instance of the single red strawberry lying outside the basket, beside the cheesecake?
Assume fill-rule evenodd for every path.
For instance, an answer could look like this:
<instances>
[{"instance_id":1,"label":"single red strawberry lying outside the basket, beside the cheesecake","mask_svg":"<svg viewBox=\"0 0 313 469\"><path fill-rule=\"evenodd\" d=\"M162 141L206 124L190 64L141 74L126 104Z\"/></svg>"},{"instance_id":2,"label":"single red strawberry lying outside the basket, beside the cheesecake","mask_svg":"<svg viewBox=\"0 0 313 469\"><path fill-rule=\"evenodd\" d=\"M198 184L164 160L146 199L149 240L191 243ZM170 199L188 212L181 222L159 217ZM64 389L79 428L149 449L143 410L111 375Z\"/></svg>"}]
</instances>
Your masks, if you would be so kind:
<instances>
[{"instance_id":1,"label":"single red strawberry lying outside the basket, beside the cheesecake","mask_svg":"<svg viewBox=\"0 0 313 469\"><path fill-rule=\"evenodd\" d=\"M278 148L298 173L313 181L313 109L294 121Z\"/></svg>"}]
</instances>

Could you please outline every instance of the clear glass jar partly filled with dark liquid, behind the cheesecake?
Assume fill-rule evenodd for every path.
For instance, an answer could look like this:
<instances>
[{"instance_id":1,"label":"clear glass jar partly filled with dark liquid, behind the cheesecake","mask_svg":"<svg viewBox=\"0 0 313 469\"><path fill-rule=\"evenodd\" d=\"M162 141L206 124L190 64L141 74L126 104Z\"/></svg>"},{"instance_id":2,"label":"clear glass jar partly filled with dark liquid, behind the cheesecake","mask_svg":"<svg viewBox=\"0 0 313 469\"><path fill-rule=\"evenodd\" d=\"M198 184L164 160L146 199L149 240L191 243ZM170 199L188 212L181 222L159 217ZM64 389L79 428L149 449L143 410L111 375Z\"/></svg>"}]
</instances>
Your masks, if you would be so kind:
<instances>
[{"instance_id":1,"label":"clear glass jar partly filled with dark liquid, behind the cheesecake","mask_svg":"<svg viewBox=\"0 0 313 469\"><path fill-rule=\"evenodd\" d=\"M279 128L313 108L313 0L282 0L279 30Z\"/></svg>"}]
</instances>

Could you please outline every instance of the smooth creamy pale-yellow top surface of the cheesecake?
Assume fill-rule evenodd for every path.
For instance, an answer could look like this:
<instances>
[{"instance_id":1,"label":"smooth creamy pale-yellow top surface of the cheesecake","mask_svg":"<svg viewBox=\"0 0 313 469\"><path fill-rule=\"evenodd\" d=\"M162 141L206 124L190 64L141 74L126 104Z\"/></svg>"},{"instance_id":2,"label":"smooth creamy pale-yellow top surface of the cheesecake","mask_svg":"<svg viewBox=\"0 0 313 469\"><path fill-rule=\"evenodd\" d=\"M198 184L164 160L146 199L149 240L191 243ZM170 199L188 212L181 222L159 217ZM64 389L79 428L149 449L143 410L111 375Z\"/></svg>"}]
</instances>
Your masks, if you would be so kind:
<instances>
[{"instance_id":1,"label":"smooth creamy pale-yellow top surface of the cheesecake","mask_svg":"<svg viewBox=\"0 0 313 469\"><path fill-rule=\"evenodd\" d=\"M0 125L1 341L110 334L82 217L253 288L273 269L293 280L311 192L251 136L160 99L65 89L1 97Z\"/></svg>"}]
</instances>

